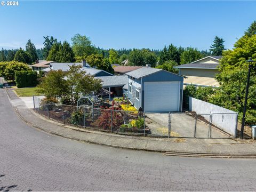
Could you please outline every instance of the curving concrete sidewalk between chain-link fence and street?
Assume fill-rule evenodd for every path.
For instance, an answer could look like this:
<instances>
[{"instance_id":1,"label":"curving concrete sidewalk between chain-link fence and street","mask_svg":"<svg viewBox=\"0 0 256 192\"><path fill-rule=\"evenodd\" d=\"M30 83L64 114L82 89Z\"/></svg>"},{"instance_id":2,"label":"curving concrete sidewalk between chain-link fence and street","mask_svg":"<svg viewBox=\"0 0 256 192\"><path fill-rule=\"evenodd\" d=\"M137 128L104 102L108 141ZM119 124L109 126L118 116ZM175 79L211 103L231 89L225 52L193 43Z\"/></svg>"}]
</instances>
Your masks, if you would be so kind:
<instances>
[{"instance_id":1,"label":"curving concrete sidewalk between chain-link fence and street","mask_svg":"<svg viewBox=\"0 0 256 192\"><path fill-rule=\"evenodd\" d=\"M11 89L6 90L20 118L39 130L77 141L127 149L173 153L255 154L256 142L239 139L174 139L133 137L92 131L51 121L28 109Z\"/></svg>"}]
</instances>

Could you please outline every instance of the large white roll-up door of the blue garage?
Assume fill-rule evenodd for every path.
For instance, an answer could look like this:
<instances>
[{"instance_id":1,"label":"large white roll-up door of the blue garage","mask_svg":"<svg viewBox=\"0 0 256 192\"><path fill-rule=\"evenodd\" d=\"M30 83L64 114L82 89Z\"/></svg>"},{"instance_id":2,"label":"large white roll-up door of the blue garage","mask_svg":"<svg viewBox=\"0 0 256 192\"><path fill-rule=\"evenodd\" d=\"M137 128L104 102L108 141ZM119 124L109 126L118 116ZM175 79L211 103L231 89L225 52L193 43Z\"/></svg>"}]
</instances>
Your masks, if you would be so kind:
<instances>
[{"instance_id":1,"label":"large white roll-up door of the blue garage","mask_svg":"<svg viewBox=\"0 0 256 192\"><path fill-rule=\"evenodd\" d=\"M147 112L180 111L180 82L145 82L144 110Z\"/></svg>"}]
</instances>

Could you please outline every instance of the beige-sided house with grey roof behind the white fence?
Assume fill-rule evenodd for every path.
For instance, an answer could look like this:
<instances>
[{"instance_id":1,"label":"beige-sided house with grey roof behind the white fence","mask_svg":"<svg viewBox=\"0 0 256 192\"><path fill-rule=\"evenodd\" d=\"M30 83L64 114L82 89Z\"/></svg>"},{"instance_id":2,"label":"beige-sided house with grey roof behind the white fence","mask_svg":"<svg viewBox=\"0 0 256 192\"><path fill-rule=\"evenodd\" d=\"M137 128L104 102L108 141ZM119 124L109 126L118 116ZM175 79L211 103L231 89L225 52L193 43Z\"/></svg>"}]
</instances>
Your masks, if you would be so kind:
<instances>
[{"instance_id":1,"label":"beige-sided house with grey roof behind the white fence","mask_svg":"<svg viewBox=\"0 0 256 192\"><path fill-rule=\"evenodd\" d=\"M221 56L208 56L197 61L176 66L179 74L187 78L184 79L184 85L193 84L195 86L219 86L219 82L215 79Z\"/></svg>"}]
</instances>

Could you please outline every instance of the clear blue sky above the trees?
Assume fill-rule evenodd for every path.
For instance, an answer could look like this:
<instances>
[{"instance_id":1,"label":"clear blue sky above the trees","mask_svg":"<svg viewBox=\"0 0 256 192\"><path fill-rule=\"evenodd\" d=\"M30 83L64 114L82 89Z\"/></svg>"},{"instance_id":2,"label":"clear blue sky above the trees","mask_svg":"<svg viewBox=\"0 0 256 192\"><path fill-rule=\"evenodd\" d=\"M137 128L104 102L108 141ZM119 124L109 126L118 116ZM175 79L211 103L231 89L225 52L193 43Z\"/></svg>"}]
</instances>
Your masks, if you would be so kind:
<instances>
[{"instance_id":1,"label":"clear blue sky above the trees","mask_svg":"<svg viewBox=\"0 0 256 192\"><path fill-rule=\"evenodd\" d=\"M0 47L37 48L43 36L89 36L103 48L162 49L173 43L209 49L214 36L228 49L256 20L255 1L19 1L0 5Z\"/></svg>"}]
</instances>

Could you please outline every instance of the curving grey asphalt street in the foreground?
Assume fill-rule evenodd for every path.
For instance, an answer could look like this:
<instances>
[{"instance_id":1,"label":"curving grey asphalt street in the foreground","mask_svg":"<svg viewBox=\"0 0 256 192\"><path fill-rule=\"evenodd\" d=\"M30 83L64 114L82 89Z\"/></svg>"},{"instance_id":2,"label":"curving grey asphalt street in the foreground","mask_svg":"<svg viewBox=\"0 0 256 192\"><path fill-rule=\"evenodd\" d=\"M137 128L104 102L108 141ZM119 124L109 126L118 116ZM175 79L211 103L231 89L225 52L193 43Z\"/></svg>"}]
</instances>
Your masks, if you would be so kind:
<instances>
[{"instance_id":1,"label":"curving grey asphalt street in the foreground","mask_svg":"<svg viewBox=\"0 0 256 192\"><path fill-rule=\"evenodd\" d=\"M164 156L92 145L24 123L0 90L0 190L255 190L254 159Z\"/></svg>"}]
</instances>

